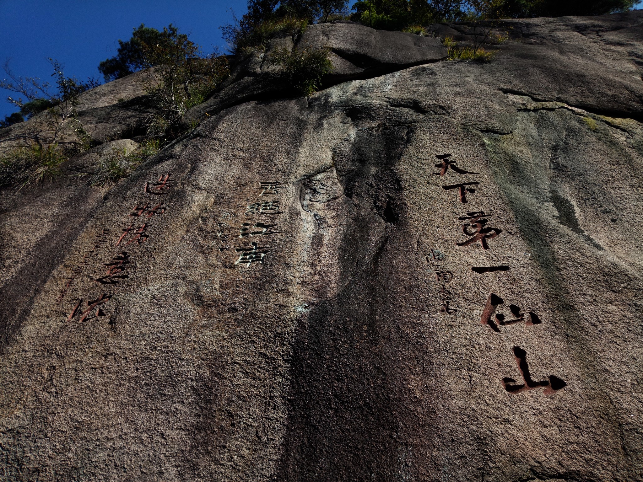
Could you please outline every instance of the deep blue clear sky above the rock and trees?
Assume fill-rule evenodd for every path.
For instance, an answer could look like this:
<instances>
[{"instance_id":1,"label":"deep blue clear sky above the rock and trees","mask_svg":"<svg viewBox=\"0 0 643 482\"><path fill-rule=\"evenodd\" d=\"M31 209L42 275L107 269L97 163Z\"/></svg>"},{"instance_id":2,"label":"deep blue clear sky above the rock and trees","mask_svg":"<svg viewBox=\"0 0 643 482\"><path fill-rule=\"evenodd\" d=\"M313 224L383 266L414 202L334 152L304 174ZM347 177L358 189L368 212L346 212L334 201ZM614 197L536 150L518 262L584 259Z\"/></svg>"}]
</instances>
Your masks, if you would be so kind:
<instances>
[{"instance_id":1,"label":"deep blue clear sky above the rock and trees","mask_svg":"<svg viewBox=\"0 0 643 482\"><path fill-rule=\"evenodd\" d=\"M47 58L65 66L65 74L85 80L101 60L116 55L118 39L129 40L141 23L158 28L173 23L190 40L212 51L225 49L219 25L246 11L246 0L0 0L0 67L11 58L14 75L50 80ZM0 78L5 78L0 69ZM0 89L0 116L17 111Z\"/></svg>"}]
</instances>

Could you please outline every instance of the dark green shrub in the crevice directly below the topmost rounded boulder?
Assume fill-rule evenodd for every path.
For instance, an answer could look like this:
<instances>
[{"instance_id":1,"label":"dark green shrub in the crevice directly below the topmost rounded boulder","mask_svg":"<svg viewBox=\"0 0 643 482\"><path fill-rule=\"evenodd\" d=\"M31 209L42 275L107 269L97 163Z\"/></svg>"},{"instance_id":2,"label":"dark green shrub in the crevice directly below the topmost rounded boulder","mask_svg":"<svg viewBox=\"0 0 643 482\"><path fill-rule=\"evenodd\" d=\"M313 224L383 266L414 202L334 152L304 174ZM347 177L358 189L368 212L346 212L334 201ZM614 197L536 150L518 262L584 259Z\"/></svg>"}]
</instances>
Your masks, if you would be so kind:
<instances>
[{"instance_id":1,"label":"dark green shrub in the crevice directly below the topmost rounded boulder","mask_svg":"<svg viewBox=\"0 0 643 482\"><path fill-rule=\"evenodd\" d=\"M321 77L332 70L329 49L289 51L284 48L273 53L269 62L284 69L285 80L300 94L310 96L321 87Z\"/></svg>"}]
</instances>

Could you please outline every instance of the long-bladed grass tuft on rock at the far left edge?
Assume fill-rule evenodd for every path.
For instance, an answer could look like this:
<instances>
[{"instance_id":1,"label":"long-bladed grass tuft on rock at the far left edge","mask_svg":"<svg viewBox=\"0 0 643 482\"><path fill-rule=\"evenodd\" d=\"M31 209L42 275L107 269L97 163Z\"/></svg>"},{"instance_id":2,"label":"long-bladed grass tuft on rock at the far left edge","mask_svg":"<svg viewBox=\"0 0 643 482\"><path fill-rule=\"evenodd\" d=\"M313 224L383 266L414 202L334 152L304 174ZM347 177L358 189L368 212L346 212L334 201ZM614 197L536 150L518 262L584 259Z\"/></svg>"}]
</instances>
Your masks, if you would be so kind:
<instances>
[{"instance_id":1,"label":"long-bladed grass tuft on rock at the far left edge","mask_svg":"<svg viewBox=\"0 0 643 482\"><path fill-rule=\"evenodd\" d=\"M19 147L0 157L0 186L36 187L62 174L60 165L67 160L57 144Z\"/></svg>"}]
</instances>

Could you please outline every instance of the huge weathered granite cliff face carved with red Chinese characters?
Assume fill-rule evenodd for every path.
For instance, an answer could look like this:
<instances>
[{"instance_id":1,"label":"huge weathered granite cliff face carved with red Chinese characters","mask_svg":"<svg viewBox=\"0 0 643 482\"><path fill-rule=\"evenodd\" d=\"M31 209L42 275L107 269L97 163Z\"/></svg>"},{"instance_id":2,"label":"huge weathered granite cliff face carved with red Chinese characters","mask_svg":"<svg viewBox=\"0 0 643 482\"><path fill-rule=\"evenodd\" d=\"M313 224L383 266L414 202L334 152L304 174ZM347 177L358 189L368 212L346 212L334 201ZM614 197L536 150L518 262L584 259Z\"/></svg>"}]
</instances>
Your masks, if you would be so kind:
<instances>
[{"instance_id":1,"label":"huge weathered granite cliff face carved with red Chinese characters","mask_svg":"<svg viewBox=\"0 0 643 482\"><path fill-rule=\"evenodd\" d=\"M389 73L240 66L111 190L3 192L3 479L643 479L642 22L316 26Z\"/></svg>"}]
</instances>

